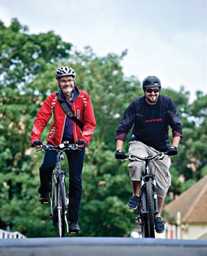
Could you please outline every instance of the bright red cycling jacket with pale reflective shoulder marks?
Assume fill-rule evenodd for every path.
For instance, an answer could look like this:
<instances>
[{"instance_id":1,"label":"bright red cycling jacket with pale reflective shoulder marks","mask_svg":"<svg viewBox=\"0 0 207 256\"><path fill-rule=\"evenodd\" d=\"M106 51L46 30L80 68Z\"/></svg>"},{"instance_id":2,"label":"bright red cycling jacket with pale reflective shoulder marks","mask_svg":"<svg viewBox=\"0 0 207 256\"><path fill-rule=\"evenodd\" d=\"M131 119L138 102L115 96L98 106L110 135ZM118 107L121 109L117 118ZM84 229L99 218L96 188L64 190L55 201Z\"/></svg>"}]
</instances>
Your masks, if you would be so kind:
<instances>
[{"instance_id":1,"label":"bright red cycling jacket with pale reflective shoulder marks","mask_svg":"<svg viewBox=\"0 0 207 256\"><path fill-rule=\"evenodd\" d=\"M79 95L71 104L71 109L75 113L75 117L83 122L84 129L81 131L80 127L76 125L74 121L72 121L73 137L75 142L77 140L84 140L88 145L96 128L93 105L88 92L79 90L76 86L75 90L78 90ZM50 131L46 140L54 145L61 143L67 116L59 104L60 100L64 99L61 97L61 94L57 95L56 93L52 93L47 97L47 99L45 99L45 102L42 104L34 120L31 133L31 143L36 140L41 140L42 131L44 130L48 121L50 121L53 114L54 121L50 125Z\"/></svg>"}]
</instances>

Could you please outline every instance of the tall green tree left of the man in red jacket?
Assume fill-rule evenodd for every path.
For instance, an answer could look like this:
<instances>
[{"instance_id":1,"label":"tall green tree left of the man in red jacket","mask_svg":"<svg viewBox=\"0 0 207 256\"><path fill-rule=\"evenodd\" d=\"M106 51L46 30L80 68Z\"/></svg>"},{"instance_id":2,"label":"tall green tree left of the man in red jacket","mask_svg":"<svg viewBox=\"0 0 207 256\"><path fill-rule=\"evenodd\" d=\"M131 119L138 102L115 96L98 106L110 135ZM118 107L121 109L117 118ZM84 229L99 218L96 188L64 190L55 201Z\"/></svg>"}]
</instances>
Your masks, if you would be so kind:
<instances>
[{"instance_id":1,"label":"tall green tree left of the man in red jacket","mask_svg":"<svg viewBox=\"0 0 207 256\"><path fill-rule=\"evenodd\" d=\"M50 90L47 81L52 64L68 58L71 51L71 44L62 42L53 32L27 32L18 20L11 20L8 28L0 23L0 223L26 235L34 219L39 223L41 219L33 206L37 205L38 172L37 157L32 157L29 149L32 121ZM37 89L42 77L46 86Z\"/></svg>"}]
</instances>

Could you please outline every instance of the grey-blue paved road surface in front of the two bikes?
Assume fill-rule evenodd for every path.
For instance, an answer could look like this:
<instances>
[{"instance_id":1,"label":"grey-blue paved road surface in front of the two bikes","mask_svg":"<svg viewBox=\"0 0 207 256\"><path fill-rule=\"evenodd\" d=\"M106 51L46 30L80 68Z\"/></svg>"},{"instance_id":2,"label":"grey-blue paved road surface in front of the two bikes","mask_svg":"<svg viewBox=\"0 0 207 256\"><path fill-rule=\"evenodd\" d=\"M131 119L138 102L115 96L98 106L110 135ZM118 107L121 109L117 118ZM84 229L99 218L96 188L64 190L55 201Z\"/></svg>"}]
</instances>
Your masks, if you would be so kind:
<instances>
[{"instance_id":1,"label":"grey-blue paved road surface in front of the two bikes","mask_svg":"<svg viewBox=\"0 0 207 256\"><path fill-rule=\"evenodd\" d=\"M65 237L2 239L1 256L206 256L207 241Z\"/></svg>"}]
</instances>

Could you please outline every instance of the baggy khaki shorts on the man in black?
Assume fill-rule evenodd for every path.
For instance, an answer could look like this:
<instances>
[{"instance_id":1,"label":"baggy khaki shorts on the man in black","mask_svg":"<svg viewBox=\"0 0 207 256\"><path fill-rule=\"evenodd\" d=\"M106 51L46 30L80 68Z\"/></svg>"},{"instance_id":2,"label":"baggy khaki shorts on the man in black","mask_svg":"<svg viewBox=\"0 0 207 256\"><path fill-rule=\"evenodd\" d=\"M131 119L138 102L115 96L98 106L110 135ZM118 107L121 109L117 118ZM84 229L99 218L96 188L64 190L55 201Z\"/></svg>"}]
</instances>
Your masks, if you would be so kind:
<instances>
[{"instance_id":1,"label":"baggy khaki shorts on the man in black","mask_svg":"<svg viewBox=\"0 0 207 256\"><path fill-rule=\"evenodd\" d=\"M140 141L132 141L129 143L129 153L137 157L148 157L157 154L158 151ZM170 164L170 157L167 156L162 160L149 161L149 170L156 175L157 196L165 197L168 188L170 188ZM141 174L144 171L144 161L133 161L128 165L128 169L131 180L140 181Z\"/></svg>"}]
</instances>

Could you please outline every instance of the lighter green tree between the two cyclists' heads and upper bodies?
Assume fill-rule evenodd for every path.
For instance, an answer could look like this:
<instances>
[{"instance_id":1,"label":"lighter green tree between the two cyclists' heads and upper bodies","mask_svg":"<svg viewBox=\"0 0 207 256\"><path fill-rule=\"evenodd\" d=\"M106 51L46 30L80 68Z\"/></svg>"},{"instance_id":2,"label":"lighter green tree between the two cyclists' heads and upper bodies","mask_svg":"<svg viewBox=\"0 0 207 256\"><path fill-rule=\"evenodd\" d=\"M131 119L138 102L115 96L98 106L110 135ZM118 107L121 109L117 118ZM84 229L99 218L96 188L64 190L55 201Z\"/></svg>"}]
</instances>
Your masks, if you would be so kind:
<instances>
[{"instance_id":1,"label":"lighter green tree between the two cyclists' heads and upper bodies","mask_svg":"<svg viewBox=\"0 0 207 256\"><path fill-rule=\"evenodd\" d=\"M73 56L77 84L90 92L93 101L97 120L95 138L97 143L104 141L110 149L115 147L111 142L124 109L136 95L141 95L140 82L123 75L120 62L124 55L125 52L121 56L109 54L100 58L87 47L84 53L75 52Z\"/></svg>"}]
</instances>

